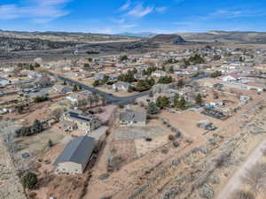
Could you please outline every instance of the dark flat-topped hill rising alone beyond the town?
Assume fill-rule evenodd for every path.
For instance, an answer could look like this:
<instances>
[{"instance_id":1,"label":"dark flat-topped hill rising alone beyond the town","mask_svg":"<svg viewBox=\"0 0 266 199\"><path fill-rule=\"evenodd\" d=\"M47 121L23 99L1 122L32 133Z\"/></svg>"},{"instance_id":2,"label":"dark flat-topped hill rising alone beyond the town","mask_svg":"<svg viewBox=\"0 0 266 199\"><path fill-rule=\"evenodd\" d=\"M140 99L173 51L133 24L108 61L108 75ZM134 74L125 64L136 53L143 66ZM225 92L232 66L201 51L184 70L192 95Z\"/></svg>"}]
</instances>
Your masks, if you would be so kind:
<instances>
[{"instance_id":1,"label":"dark flat-topped hill rising alone beyond the town","mask_svg":"<svg viewBox=\"0 0 266 199\"><path fill-rule=\"evenodd\" d=\"M164 42L164 43L184 43L184 39L176 34L157 34L148 39L148 42Z\"/></svg>"}]
</instances>

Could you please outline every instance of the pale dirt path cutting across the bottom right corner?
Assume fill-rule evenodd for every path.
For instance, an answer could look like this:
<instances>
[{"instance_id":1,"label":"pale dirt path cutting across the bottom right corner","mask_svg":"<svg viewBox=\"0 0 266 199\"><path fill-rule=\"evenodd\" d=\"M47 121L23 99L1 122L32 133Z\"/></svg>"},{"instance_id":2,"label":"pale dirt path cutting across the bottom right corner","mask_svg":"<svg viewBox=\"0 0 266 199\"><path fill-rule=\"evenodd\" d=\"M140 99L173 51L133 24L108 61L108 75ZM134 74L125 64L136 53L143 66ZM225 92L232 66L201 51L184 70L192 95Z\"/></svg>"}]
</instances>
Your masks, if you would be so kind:
<instances>
[{"instance_id":1,"label":"pale dirt path cutting across the bottom right corner","mask_svg":"<svg viewBox=\"0 0 266 199\"><path fill-rule=\"evenodd\" d=\"M237 172L231 177L229 182L223 188L223 190L215 197L215 199L229 199L233 191L241 185L241 177L245 174L246 170L251 169L252 166L257 163L262 157L262 149L266 146L266 139L263 140L260 145L254 150L254 152L247 157L244 165L239 168Z\"/></svg>"}]
</instances>

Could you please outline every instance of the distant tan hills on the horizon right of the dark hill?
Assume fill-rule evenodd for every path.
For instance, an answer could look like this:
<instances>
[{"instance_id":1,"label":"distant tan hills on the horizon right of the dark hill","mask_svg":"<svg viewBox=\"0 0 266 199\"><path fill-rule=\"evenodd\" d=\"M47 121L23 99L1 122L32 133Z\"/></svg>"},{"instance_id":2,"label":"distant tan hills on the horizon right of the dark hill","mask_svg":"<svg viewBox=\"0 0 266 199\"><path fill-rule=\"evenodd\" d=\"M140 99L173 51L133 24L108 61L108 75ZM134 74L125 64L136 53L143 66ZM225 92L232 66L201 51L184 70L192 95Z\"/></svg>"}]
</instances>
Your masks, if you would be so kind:
<instances>
[{"instance_id":1,"label":"distant tan hills on the horizon right of the dark hill","mask_svg":"<svg viewBox=\"0 0 266 199\"><path fill-rule=\"evenodd\" d=\"M224 43L266 43L266 33L240 31L209 31L207 33L178 33L186 41Z\"/></svg>"}]
</instances>

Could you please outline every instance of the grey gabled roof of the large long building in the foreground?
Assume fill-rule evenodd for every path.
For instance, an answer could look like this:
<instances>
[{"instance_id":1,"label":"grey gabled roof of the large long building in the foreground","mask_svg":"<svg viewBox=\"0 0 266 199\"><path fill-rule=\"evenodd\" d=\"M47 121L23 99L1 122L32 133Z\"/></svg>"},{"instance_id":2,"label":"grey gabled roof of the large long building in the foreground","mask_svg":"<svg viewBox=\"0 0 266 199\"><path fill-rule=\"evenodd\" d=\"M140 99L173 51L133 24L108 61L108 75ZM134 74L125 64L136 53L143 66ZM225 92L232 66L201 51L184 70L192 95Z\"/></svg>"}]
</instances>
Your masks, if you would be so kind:
<instances>
[{"instance_id":1,"label":"grey gabled roof of the large long building in the foreground","mask_svg":"<svg viewBox=\"0 0 266 199\"><path fill-rule=\"evenodd\" d=\"M82 164L82 166L85 167L94 147L94 138L88 137L86 135L76 137L67 143L66 148L61 152L53 165L57 166L59 163L74 162Z\"/></svg>"}]
</instances>

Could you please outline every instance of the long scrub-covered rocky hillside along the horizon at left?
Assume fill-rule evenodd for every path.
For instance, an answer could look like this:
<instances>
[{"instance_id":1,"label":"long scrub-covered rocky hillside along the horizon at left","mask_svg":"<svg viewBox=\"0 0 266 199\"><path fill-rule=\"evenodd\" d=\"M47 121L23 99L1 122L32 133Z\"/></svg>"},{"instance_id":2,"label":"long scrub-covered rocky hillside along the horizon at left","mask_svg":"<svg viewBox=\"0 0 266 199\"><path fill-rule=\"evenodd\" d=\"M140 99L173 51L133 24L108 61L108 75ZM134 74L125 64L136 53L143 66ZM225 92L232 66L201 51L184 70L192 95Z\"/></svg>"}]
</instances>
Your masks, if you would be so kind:
<instances>
[{"instance_id":1,"label":"long scrub-covered rocky hillside along the horizon at left","mask_svg":"<svg viewBox=\"0 0 266 199\"><path fill-rule=\"evenodd\" d=\"M64 32L16 32L0 30L0 51L71 49L77 44L101 42L129 42L137 39L109 34Z\"/></svg>"}]
</instances>

